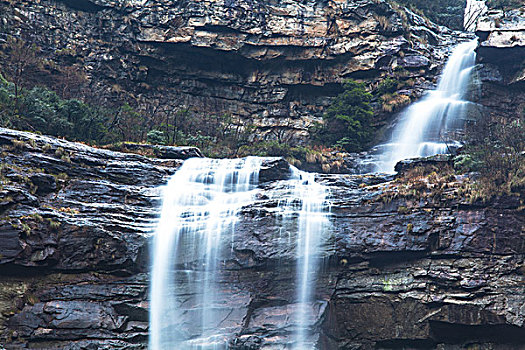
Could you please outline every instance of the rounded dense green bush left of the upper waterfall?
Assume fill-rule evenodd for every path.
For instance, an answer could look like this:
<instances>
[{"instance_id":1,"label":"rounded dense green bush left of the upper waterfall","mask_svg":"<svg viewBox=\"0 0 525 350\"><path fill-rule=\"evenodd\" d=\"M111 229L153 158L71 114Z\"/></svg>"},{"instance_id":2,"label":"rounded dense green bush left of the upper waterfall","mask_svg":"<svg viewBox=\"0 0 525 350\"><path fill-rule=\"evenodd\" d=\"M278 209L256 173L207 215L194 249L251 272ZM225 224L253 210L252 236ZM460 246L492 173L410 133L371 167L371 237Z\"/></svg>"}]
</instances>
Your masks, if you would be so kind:
<instances>
[{"instance_id":1,"label":"rounded dense green bush left of the upper waterfall","mask_svg":"<svg viewBox=\"0 0 525 350\"><path fill-rule=\"evenodd\" d=\"M317 131L322 143L343 148L349 152L364 149L372 140L372 94L364 83L348 80L323 116L324 125Z\"/></svg>"}]
</instances>

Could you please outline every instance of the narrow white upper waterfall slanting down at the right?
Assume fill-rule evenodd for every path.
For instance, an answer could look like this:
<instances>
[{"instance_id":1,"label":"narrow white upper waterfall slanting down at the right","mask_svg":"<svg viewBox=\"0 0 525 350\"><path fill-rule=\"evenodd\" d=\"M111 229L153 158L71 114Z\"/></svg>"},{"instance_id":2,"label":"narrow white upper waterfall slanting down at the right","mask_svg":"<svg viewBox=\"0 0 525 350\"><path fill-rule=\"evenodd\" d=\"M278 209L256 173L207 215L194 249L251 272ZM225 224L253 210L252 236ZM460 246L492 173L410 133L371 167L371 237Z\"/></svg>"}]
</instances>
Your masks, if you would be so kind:
<instances>
[{"instance_id":1,"label":"narrow white upper waterfall slanting down at the right","mask_svg":"<svg viewBox=\"0 0 525 350\"><path fill-rule=\"evenodd\" d=\"M376 171L391 173L403 159L448 153L458 147L453 140L462 130L470 105L465 94L476 61L477 40L459 44L452 52L436 90L410 106L394 128L376 162Z\"/></svg>"}]
</instances>

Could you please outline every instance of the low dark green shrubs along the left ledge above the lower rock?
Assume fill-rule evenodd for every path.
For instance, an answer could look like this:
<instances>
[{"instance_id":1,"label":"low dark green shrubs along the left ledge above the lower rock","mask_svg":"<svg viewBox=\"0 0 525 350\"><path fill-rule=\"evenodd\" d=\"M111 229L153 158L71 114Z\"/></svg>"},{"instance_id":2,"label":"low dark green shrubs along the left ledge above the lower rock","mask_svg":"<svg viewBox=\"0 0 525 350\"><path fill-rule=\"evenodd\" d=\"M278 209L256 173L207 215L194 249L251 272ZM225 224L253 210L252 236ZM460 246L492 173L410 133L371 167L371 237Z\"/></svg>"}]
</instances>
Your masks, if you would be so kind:
<instances>
[{"instance_id":1,"label":"low dark green shrubs along the left ledge above the lower rock","mask_svg":"<svg viewBox=\"0 0 525 350\"><path fill-rule=\"evenodd\" d=\"M4 127L99 145L123 141L192 145L210 156L237 155L250 143L253 131L234 125L228 115L201 116L187 110L159 124L148 122L128 104L94 107L79 99L63 99L46 87L16 87L0 75L0 126Z\"/></svg>"}]
</instances>

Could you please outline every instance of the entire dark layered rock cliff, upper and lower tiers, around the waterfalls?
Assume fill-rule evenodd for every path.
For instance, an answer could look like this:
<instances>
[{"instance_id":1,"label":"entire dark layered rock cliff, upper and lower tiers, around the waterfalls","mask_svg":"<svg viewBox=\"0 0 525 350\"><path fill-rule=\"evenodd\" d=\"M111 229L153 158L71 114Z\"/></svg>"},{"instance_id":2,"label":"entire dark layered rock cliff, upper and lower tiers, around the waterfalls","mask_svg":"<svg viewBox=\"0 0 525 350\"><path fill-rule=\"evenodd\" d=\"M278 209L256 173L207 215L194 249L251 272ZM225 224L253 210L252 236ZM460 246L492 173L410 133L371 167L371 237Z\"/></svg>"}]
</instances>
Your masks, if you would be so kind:
<instances>
[{"instance_id":1,"label":"entire dark layered rock cliff, upper and lower tiers, around the waterfalls","mask_svg":"<svg viewBox=\"0 0 525 350\"><path fill-rule=\"evenodd\" d=\"M403 69L417 94L448 43L446 29L381 0L22 0L0 11L2 33L81 63L113 96L229 111L261 137L284 130L297 142L344 78ZM480 104L523 116L520 15L488 19L477 34ZM149 157L0 129L0 348L146 348L159 186L200 153L127 147ZM469 177L449 167L445 157L405 164L397 179L318 176L332 202L310 309L320 349L522 348L523 207L469 202ZM228 316L217 327L235 330L232 349L290 341L295 257L277 244L272 199L288 173L282 160L266 163L220 276Z\"/></svg>"}]
</instances>

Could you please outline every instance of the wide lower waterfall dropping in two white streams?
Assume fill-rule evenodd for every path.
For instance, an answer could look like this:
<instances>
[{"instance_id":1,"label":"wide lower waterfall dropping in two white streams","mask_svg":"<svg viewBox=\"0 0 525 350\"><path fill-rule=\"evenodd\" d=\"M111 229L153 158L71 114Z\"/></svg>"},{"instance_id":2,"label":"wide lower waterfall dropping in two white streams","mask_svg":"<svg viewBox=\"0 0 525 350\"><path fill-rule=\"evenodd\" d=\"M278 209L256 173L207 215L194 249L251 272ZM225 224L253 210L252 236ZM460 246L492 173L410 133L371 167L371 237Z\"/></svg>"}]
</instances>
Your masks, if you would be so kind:
<instances>
[{"instance_id":1,"label":"wide lower waterfall dropping in two white streams","mask_svg":"<svg viewBox=\"0 0 525 350\"><path fill-rule=\"evenodd\" d=\"M245 315L228 309L249 298L246 291L221 289L224 261L233 254L235 227L241 209L256 200L263 158L206 159L184 162L164 188L163 206L153 239L150 286L151 350L227 349ZM297 251L296 312L290 343L311 349L315 273L328 223L325 187L313 174L291 167L281 181L277 210L283 218L281 237ZM284 228L287 226L287 228ZM295 232L291 232L295 231ZM229 293L231 295L229 295ZM231 301L233 300L233 301ZM293 302L293 301L292 301Z\"/></svg>"}]
</instances>

